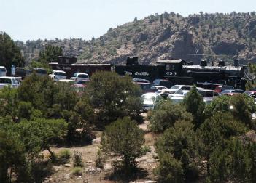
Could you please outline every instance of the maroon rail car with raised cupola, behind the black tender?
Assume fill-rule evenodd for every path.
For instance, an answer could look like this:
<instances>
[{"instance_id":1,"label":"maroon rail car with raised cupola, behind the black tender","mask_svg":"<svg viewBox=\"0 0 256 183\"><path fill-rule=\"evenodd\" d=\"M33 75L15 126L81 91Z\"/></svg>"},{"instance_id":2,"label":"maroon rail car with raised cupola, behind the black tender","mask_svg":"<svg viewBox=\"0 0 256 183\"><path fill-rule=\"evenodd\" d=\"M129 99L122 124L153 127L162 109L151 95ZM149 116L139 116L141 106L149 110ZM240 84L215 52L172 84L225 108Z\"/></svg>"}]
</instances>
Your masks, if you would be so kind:
<instances>
[{"instance_id":1,"label":"maroon rail car with raised cupola, behind the black tender","mask_svg":"<svg viewBox=\"0 0 256 183\"><path fill-rule=\"evenodd\" d=\"M58 62L50 62L49 65L53 70L65 71L67 78L73 76L74 73L88 73L89 76L92 76L93 73L99 70L112 70L111 64L77 63L76 57L58 57Z\"/></svg>"}]
</instances>

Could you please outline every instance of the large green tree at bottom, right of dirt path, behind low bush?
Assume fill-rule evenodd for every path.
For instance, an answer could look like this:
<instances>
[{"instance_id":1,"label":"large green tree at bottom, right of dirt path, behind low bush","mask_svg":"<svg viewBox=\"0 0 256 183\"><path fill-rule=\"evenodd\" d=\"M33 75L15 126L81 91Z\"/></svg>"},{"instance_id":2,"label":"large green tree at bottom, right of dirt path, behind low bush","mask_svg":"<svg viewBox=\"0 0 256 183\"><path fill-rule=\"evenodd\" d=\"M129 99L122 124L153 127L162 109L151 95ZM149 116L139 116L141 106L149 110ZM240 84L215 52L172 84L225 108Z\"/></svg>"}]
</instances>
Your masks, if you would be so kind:
<instances>
[{"instance_id":1,"label":"large green tree at bottom, right of dirt path, behind low bush","mask_svg":"<svg viewBox=\"0 0 256 183\"><path fill-rule=\"evenodd\" d=\"M190 121L177 121L174 123L174 127L166 129L156 142L156 150L160 163L161 158L166 158L166 155L181 163L182 179L192 180L198 177L197 140L193 123ZM163 168L163 166L165 165L160 164L160 167ZM170 171L169 174L174 174L174 172ZM159 176L168 176L169 174Z\"/></svg>"}]
</instances>

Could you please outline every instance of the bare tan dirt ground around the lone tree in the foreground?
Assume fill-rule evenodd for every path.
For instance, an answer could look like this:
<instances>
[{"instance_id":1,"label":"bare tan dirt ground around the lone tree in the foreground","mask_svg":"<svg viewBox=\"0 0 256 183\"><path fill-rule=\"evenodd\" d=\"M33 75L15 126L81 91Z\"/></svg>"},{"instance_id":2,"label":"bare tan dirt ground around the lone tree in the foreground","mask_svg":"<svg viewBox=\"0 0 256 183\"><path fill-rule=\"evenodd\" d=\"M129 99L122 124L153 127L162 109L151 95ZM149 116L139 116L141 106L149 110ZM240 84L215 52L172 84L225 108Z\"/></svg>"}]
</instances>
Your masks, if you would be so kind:
<instances>
[{"instance_id":1,"label":"bare tan dirt ground around the lone tree in the foreground","mask_svg":"<svg viewBox=\"0 0 256 183\"><path fill-rule=\"evenodd\" d=\"M144 172L144 176L140 179L135 179L132 182L150 183L152 182L151 180L154 179L152 170L158 165L158 161L155 159L156 157L155 147L154 147L155 137L154 135L152 135L152 133L149 132L149 129L148 129L149 122L147 121L147 115L146 114L142 114L142 115L144 116L144 123L141 123L139 127L145 132L145 145L150 147L150 152L147 152L146 155L142 156L137 160L139 168L141 168L141 170ZM53 147L52 150L55 153L58 153L64 149L68 149L71 152L71 154L73 154L74 151L78 151L82 153L82 158L83 158L82 160L85 166L82 168L82 176L74 176L72 174L72 169L73 169L72 159L70 159L69 163L66 163L65 165L53 166L54 173L51 176L47 177L44 180L44 183L47 183L47 182L66 182L66 183L124 182L124 181L109 180L108 178L109 175L112 173L111 162L115 160L115 158L108 158L106 160L106 163L104 164L104 169L96 168L95 160L96 160L98 146L100 145L100 137L101 137L101 132L96 131L96 139L93 139L92 145L87 145L83 147L71 147L71 148Z\"/></svg>"}]
</instances>

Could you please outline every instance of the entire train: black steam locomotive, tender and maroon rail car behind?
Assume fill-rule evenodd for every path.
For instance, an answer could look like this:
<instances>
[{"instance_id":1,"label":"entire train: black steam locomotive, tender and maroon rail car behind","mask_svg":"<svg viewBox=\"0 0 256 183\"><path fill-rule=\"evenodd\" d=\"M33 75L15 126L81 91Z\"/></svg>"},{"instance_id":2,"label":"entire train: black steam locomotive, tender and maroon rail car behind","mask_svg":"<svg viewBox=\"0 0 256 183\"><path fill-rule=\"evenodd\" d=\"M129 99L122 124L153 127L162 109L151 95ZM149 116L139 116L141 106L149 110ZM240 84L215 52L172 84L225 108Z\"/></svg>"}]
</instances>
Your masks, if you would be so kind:
<instances>
[{"instance_id":1,"label":"entire train: black steam locomotive, tender and maroon rail car behind","mask_svg":"<svg viewBox=\"0 0 256 183\"><path fill-rule=\"evenodd\" d=\"M226 84L235 88L245 89L247 81L253 81L255 76L249 72L247 65L226 66L220 61L217 65L207 65L201 60L200 65L193 65L181 59L158 60L156 65L140 65L138 57L127 57L125 65L112 64L83 64L77 63L76 57L58 57L58 62L50 62L53 70L66 71L67 78L75 72L88 73L91 76L98 70L118 73L120 76L129 75L132 78L143 78L149 81L167 79L173 84L200 84L203 82Z\"/></svg>"}]
</instances>

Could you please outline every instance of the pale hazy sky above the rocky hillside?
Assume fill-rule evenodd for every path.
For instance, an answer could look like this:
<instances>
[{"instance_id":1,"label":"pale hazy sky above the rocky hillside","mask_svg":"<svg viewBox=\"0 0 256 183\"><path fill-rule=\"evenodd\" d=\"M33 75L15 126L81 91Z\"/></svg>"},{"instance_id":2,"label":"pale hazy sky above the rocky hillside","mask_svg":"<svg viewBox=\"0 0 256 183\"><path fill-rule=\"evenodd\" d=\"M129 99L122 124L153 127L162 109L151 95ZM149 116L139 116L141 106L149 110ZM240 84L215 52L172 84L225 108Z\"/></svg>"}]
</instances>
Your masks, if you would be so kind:
<instances>
[{"instance_id":1,"label":"pale hazy sky above the rocky hillside","mask_svg":"<svg viewBox=\"0 0 256 183\"><path fill-rule=\"evenodd\" d=\"M252 12L256 0L0 0L0 31L14 40L97 38L109 28L176 12Z\"/></svg>"}]
</instances>

